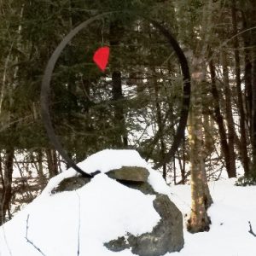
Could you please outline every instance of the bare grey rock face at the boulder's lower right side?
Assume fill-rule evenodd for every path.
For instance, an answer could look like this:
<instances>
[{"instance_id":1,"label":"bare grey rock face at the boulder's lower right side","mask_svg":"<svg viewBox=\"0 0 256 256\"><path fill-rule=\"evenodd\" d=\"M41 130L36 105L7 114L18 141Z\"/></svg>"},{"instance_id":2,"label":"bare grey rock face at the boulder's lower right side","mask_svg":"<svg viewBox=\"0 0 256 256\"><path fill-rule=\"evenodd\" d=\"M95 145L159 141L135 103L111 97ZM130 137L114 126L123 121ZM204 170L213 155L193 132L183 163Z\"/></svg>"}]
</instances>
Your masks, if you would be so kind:
<instances>
[{"instance_id":1,"label":"bare grey rock face at the boulder's lower right side","mask_svg":"<svg viewBox=\"0 0 256 256\"><path fill-rule=\"evenodd\" d=\"M126 238L119 237L104 245L114 252L131 247L131 252L140 256L160 256L180 251L184 244L182 213L167 195L156 195L154 209L161 219L152 232L142 236L127 234Z\"/></svg>"}]
</instances>

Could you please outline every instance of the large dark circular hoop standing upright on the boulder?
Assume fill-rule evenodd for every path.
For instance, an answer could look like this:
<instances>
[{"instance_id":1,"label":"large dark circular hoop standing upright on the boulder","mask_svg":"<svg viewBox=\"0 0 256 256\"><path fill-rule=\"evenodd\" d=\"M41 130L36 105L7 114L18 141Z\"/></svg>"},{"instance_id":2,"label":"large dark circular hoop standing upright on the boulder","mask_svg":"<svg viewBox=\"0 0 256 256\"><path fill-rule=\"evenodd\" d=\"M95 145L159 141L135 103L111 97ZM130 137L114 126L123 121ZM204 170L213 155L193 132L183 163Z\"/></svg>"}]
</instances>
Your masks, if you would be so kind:
<instances>
[{"instance_id":1,"label":"large dark circular hoop standing upright on the boulder","mask_svg":"<svg viewBox=\"0 0 256 256\"><path fill-rule=\"evenodd\" d=\"M67 161L68 166L72 166L73 169L75 169L77 172L82 174L85 177L93 177L92 174L89 174L86 172L86 170L81 170L79 166L77 166L73 160L69 158L67 155L67 152L62 148L61 143L58 139L58 137L55 135L54 127L51 123L50 115L49 115L49 93L50 93L50 81L51 76L55 68L56 61L59 59L62 50L67 46L67 44L72 40L72 38L77 35L82 29L84 29L86 26L90 25L95 20L100 20L105 16L111 15L113 12L103 13L101 15L96 15L95 17L90 18L89 20L84 21L79 26L76 26L73 28L71 32L67 34L65 38L61 41L61 43L57 46L54 53L49 58L47 67L44 71L44 77L42 80L42 87L41 87L41 95L40 95L40 104L41 104L41 114L42 119L44 122L45 129L47 131L48 137L51 141L51 143L55 146L55 149L61 154L62 158ZM147 17L144 17L142 15L137 15L141 18L148 20L150 23L152 23L156 28L160 30L160 32L168 39L169 43L171 44L172 48L174 49L177 59L180 62L180 66L183 73L183 106L181 110L181 115L179 119L179 124L177 126L177 131L174 136L174 140L172 143L172 147L169 150L169 152L166 154L164 160L154 166L154 168L159 168L164 163L166 163L168 160L174 156L179 144L181 143L181 140L183 138L184 130L187 124L188 114L189 114L189 102L190 102L190 75L189 75L189 66L188 61L183 54L183 50L180 48L180 46L177 44L177 41L175 38L172 37L171 32L166 30L165 27L161 26L159 22L155 20L150 20Z\"/></svg>"}]
</instances>

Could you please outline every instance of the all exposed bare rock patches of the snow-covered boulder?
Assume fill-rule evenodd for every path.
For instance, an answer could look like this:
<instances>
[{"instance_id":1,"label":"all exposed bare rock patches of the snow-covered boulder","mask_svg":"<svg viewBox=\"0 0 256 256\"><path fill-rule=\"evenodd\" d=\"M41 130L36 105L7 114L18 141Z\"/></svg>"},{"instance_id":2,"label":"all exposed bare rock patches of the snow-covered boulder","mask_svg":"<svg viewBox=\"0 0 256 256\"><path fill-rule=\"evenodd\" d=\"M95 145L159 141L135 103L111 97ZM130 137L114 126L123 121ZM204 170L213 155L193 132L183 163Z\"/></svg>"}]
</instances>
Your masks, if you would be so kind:
<instances>
[{"instance_id":1,"label":"all exposed bare rock patches of the snow-covered boulder","mask_svg":"<svg viewBox=\"0 0 256 256\"><path fill-rule=\"evenodd\" d=\"M108 247L113 252L131 248L131 252L139 256L160 256L180 251L184 244L182 213L167 195L154 191L148 183L148 170L142 167L123 166L106 174L131 189L138 189L145 195L155 195L154 209L160 215L160 222L154 226L150 233L145 233L141 236L126 234L126 236L117 237L113 241L106 242L104 244L105 247ZM89 182L90 178L69 177L63 180L52 192L79 189Z\"/></svg>"}]
</instances>

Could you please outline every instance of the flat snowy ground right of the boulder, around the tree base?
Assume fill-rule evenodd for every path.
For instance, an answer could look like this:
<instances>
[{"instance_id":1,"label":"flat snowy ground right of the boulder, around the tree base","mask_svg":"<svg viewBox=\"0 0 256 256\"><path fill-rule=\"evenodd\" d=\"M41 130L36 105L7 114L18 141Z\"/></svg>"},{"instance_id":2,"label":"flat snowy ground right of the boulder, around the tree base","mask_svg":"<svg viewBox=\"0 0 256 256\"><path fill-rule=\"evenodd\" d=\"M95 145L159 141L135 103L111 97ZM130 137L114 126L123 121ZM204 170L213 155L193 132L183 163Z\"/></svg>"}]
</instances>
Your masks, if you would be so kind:
<instances>
[{"instance_id":1,"label":"flat snowy ground right of the boulder, around the tree base","mask_svg":"<svg viewBox=\"0 0 256 256\"><path fill-rule=\"evenodd\" d=\"M232 178L209 183L214 202L208 210L212 220L211 230L193 235L184 230L183 250L170 255L256 255L256 237L248 232L250 221L256 233L256 186L237 187L235 182L236 179ZM189 212L189 185L172 187L172 201L182 212Z\"/></svg>"}]
</instances>

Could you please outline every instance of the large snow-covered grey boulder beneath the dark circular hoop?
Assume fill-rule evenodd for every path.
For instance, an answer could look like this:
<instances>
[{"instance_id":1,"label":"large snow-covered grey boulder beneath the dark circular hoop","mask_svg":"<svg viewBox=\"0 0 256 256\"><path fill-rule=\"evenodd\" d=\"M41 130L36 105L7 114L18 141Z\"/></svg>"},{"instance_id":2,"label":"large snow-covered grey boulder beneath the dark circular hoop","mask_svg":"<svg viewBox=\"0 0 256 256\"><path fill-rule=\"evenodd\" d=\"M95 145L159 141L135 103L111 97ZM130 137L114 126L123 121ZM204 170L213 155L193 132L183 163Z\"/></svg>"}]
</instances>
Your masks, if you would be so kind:
<instances>
[{"instance_id":1,"label":"large snow-covered grey boulder beneath the dark circular hoop","mask_svg":"<svg viewBox=\"0 0 256 256\"><path fill-rule=\"evenodd\" d=\"M182 213L137 151L103 150L79 167L101 173L88 179L70 168L52 178L0 228L0 255L157 256L183 248Z\"/></svg>"}]
</instances>

